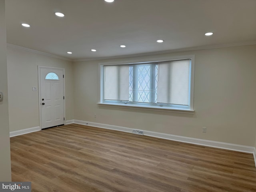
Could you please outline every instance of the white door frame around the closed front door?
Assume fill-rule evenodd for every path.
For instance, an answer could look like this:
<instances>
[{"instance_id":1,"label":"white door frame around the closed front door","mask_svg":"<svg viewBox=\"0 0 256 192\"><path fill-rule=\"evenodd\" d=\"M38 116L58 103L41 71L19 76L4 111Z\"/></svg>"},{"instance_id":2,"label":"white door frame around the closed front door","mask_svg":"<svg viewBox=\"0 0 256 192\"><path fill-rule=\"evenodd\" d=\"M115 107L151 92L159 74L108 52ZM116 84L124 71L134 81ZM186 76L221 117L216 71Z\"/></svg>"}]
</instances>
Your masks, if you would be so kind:
<instances>
[{"instance_id":1,"label":"white door frame around the closed front door","mask_svg":"<svg viewBox=\"0 0 256 192\"><path fill-rule=\"evenodd\" d=\"M40 130L42 130L42 109L41 109L41 73L40 73L40 69L55 69L55 70L62 70L63 71L63 95L64 95L64 106L63 106L63 110L64 110L64 125L66 125L66 89L65 89L65 68L59 68L59 67L49 67L49 66L40 66L38 65L38 105L39 105L39 127Z\"/></svg>"}]
</instances>

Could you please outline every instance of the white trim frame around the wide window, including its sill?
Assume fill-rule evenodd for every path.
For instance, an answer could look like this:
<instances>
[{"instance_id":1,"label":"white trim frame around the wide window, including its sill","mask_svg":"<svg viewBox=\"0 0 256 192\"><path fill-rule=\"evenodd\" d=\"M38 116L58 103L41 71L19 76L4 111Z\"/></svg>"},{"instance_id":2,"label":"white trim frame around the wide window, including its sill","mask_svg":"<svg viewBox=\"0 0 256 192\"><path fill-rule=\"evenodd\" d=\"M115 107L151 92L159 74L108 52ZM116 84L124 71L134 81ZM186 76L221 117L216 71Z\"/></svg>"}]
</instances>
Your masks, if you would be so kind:
<instances>
[{"instance_id":1,"label":"white trim frame around the wide window, including its sill","mask_svg":"<svg viewBox=\"0 0 256 192\"><path fill-rule=\"evenodd\" d=\"M171 108L164 106L145 106L138 104L112 104L103 102L103 84L102 84L102 74L103 66L106 65L123 65L123 64L143 64L148 62L164 62L171 60L180 60L180 59L191 59L191 84L190 84L190 108ZM102 62L98 64L99 68L99 106L109 106L109 107L119 107L119 108L133 108L133 109L144 109L144 110L154 110L154 111L172 111L179 113L194 113L194 65L195 65L195 56L194 55L181 55L181 56L171 56L171 57L161 57L161 58L149 58L149 59L138 59L138 60L127 60L122 62Z\"/></svg>"}]
</instances>

